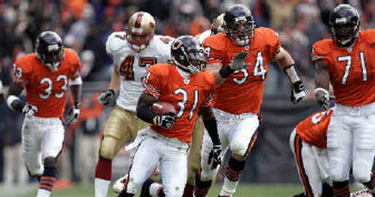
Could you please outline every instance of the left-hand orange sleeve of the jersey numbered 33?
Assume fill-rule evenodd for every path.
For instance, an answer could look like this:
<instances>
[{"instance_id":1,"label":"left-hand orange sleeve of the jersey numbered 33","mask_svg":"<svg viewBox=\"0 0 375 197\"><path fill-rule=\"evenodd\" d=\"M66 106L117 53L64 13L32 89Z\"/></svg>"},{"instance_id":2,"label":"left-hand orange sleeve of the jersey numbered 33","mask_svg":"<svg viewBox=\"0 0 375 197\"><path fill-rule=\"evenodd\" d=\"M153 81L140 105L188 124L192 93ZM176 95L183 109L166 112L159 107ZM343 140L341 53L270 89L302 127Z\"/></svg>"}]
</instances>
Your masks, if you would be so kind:
<instances>
[{"instance_id":1,"label":"left-hand orange sleeve of the jersey numbered 33","mask_svg":"<svg viewBox=\"0 0 375 197\"><path fill-rule=\"evenodd\" d=\"M26 66L25 61L17 60L11 68L11 76L15 83L18 86L25 88L29 83L29 75L30 75L30 67L31 65Z\"/></svg>"}]
</instances>

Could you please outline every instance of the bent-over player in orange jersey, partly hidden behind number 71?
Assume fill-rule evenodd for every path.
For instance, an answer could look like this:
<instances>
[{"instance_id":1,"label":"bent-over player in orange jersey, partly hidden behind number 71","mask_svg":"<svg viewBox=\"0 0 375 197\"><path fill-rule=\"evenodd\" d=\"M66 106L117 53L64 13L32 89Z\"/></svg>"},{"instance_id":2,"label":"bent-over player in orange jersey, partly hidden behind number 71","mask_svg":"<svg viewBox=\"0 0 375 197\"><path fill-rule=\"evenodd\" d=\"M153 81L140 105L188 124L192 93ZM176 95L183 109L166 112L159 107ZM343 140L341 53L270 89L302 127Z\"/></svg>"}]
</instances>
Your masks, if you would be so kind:
<instances>
[{"instance_id":1,"label":"bent-over player in orange jersey, partly hidden behind number 71","mask_svg":"<svg viewBox=\"0 0 375 197\"><path fill-rule=\"evenodd\" d=\"M333 110L314 113L297 124L290 134L290 149L306 197L332 196L328 170L326 132Z\"/></svg>"}]
</instances>

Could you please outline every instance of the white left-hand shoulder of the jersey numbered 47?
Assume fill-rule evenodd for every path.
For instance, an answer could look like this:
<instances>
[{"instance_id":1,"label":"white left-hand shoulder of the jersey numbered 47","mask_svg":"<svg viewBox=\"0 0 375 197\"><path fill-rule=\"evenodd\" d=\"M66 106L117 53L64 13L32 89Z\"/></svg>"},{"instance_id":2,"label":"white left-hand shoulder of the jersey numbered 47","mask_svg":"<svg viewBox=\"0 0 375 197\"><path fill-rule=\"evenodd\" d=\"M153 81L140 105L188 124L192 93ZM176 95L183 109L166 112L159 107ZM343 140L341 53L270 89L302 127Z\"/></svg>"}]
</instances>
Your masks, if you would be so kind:
<instances>
[{"instance_id":1,"label":"white left-hand shoulder of the jersey numbered 47","mask_svg":"<svg viewBox=\"0 0 375 197\"><path fill-rule=\"evenodd\" d=\"M108 36L105 44L108 55L114 56L123 47L127 47L126 32L113 32Z\"/></svg>"}]
</instances>

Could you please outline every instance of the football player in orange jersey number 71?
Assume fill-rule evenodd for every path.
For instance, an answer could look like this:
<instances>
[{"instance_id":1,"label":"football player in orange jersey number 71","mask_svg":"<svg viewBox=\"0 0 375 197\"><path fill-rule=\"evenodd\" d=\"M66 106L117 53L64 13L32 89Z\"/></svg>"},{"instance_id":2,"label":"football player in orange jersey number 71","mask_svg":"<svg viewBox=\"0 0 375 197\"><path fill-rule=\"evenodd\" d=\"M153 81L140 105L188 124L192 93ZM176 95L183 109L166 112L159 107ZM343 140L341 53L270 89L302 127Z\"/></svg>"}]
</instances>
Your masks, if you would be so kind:
<instances>
[{"instance_id":1,"label":"football player in orange jersey number 71","mask_svg":"<svg viewBox=\"0 0 375 197\"><path fill-rule=\"evenodd\" d=\"M360 32L358 12L345 4L332 11L329 24L332 38L313 45L315 98L327 108L332 84L336 108L327 130L329 168L335 195L348 196L351 166L357 181L375 185L375 30Z\"/></svg>"}]
</instances>

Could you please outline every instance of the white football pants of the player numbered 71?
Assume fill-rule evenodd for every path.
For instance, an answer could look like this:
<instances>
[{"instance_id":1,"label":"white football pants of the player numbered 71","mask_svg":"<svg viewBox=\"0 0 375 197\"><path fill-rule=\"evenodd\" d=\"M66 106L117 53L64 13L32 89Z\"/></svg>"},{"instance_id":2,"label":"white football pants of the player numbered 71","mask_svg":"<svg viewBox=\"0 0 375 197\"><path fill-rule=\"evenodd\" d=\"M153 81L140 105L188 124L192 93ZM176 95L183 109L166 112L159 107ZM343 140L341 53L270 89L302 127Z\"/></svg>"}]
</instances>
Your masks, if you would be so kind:
<instances>
[{"instance_id":1,"label":"white football pants of the player numbered 71","mask_svg":"<svg viewBox=\"0 0 375 197\"><path fill-rule=\"evenodd\" d=\"M336 104L327 130L327 149L333 182L353 177L361 183L371 179L375 150L375 103L359 107Z\"/></svg>"}]
</instances>

